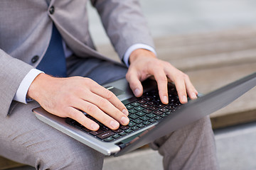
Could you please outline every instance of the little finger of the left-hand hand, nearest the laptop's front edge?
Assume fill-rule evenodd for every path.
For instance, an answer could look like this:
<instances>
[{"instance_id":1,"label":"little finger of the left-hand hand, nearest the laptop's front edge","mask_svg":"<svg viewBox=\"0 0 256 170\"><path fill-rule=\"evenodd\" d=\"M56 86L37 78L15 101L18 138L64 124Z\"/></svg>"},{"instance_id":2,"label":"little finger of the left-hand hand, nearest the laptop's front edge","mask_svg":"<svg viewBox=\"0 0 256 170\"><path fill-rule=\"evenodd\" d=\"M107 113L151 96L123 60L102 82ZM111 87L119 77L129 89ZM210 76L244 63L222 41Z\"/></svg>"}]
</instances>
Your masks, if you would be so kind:
<instances>
[{"instance_id":1,"label":"little finger of the left-hand hand, nearest the laptop's front edge","mask_svg":"<svg viewBox=\"0 0 256 170\"><path fill-rule=\"evenodd\" d=\"M73 120L78 121L81 125L85 126L85 128L89 130L98 130L100 126L95 123L95 121L90 120L90 118L87 118L81 111L78 111L76 108L70 107L68 110L69 117Z\"/></svg>"}]
</instances>

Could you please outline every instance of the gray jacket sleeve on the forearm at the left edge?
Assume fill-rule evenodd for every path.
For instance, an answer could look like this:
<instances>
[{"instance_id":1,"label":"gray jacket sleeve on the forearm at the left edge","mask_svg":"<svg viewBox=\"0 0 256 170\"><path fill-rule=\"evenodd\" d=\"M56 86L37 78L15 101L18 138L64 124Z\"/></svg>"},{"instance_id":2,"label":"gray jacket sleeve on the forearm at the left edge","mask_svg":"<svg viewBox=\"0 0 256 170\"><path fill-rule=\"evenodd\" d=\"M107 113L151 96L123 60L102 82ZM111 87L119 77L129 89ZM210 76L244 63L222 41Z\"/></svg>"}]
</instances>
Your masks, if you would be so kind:
<instances>
[{"instance_id":1,"label":"gray jacket sleeve on the forearm at the left edge","mask_svg":"<svg viewBox=\"0 0 256 170\"><path fill-rule=\"evenodd\" d=\"M1 93L1 115L9 113L11 102L18 89L19 84L33 67L18 60L0 50L0 93Z\"/></svg>"}]
</instances>

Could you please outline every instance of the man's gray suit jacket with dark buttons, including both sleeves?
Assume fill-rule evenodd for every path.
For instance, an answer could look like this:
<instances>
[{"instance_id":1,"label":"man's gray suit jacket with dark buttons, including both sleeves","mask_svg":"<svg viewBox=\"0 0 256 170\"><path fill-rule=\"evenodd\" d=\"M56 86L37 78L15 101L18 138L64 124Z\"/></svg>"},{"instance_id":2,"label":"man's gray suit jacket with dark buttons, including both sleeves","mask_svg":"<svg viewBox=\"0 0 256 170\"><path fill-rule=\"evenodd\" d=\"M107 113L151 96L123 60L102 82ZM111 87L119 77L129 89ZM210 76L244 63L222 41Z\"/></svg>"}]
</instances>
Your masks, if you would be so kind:
<instances>
[{"instance_id":1,"label":"man's gray suit jacket with dark buttons, including both sleeves","mask_svg":"<svg viewBox=\"0 0 256 170\"><path fill-rule=\"evenodd\" d=\"M91 0L114 49L122 59L134 43L154 46L138 0ZM0 1L0 116L6 116L23 77L41 61L53 23L80 57L100 57L87 20L87 0ZM54 6L54 13L50 7ZM32 62L38 55L39 60Z\"/></svg>"}]
</instances>

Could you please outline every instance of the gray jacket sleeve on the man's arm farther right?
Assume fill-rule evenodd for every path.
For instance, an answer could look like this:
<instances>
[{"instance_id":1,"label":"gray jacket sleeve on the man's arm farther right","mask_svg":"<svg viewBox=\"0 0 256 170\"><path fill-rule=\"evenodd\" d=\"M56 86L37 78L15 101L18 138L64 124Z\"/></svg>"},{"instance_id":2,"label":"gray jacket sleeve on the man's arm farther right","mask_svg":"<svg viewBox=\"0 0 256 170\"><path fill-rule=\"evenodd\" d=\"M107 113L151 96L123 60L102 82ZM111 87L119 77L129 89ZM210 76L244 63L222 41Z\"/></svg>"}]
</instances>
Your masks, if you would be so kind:
<instances>
[{"instance_id":1,"label":"gray jacket sleeve on the man's arm farther right","mask_svg":"<svg viewBox=\"0 0 256 170\"><path fill-rule=\"evenodd\" d=\"M154 47L138 0L91 0L91 2L92 6L97 8L107 35L121 59L127 49L136 43Z\"/></svg>"}]
</instances>

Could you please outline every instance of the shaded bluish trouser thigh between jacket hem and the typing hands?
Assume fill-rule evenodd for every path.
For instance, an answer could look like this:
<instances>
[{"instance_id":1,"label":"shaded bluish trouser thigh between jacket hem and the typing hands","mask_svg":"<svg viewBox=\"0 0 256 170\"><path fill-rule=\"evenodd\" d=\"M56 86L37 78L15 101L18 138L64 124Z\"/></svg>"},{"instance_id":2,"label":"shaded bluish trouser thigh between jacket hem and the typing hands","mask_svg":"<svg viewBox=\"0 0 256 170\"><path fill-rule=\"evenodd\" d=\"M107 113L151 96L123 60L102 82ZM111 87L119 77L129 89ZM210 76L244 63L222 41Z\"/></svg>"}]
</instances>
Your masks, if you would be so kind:
<instances>
[{"instance_id":1,"label":"shaded bluish trouser thigh between jacket hem and the typing hands","mask_svg":"<svg viewBox=\"0 0 256 170\"><path fill-rule=\"evenodd\" d=\"M81 58L72 56L67 60L68 77L81 76L93 79L98 84L122 79L127 73L127 67L96 57Z\"/></svg>"}]
</instances>

